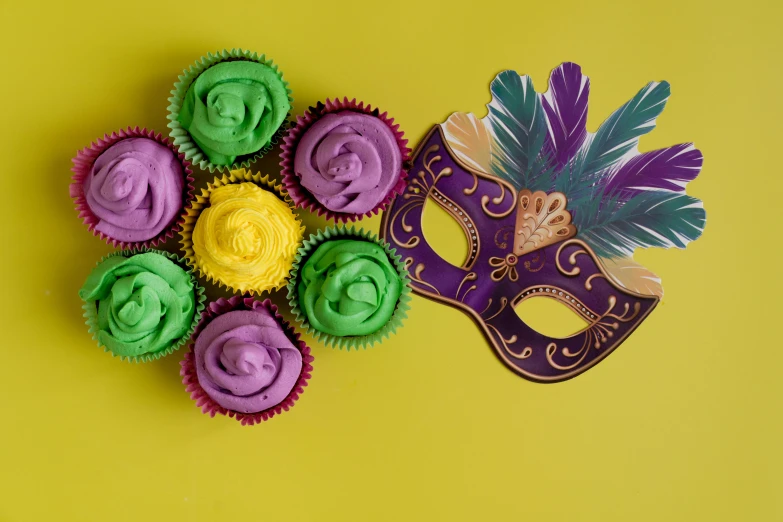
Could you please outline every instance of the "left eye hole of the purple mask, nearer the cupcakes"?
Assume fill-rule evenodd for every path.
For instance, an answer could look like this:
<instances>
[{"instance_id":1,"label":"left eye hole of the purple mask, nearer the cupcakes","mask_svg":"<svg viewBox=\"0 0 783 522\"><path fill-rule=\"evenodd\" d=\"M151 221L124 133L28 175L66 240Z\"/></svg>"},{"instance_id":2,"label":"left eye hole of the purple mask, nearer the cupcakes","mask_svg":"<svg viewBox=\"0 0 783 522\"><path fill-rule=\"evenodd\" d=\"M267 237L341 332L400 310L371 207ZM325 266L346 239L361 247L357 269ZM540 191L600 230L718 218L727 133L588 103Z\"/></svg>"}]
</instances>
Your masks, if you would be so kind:
<instances>
[{"instance_id":1,"label":"left eye hole of the purple mask, nearer the cupcakes","mask_svg":"<svg viewBox=\"0 0 783 522\"><path fill-rule=\"evenodd\" d=\"M427 199L421 215L421 228L427 243L440 257L454 266L465 266L468 239L453 211L450 213L432 198Z\"/></svg>"}]
</instances>

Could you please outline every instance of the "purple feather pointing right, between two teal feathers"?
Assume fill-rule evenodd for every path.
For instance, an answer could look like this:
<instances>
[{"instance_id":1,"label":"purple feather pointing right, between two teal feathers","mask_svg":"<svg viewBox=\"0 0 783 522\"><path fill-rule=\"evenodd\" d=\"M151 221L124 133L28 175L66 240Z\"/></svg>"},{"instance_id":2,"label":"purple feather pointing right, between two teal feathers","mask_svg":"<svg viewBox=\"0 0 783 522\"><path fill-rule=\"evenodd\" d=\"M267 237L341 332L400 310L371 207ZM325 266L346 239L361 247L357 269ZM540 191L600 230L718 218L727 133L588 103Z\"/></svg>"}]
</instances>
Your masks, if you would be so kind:
<instances>
[{"instance_id":1,"label":"purple feather pointing right, between two teal feathers","mask_svg":"<svg viewBox=\"0 0 783 522\"><path fill-rule=\"evenodd\" d=\"M627 201L645 190L684 192L685 185L699 175L703 157L692 143L633 156L609 177L606 194Z\"/></svg>"}]
</instances>

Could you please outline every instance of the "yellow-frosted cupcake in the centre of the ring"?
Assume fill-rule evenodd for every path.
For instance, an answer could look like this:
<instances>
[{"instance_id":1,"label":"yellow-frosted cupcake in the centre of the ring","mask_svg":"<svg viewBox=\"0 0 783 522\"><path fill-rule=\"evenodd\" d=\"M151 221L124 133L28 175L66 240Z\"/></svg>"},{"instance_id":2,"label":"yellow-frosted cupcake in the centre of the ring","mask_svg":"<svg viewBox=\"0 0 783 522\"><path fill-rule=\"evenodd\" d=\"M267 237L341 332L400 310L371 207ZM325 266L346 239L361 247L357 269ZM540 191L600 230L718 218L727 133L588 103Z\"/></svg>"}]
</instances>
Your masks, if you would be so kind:
<instances>
[{"instance_id":1,"label":"yellow-frosted cupcake in the centre of the ring","mask_svg":"<svg viewBox=\"0 0 783 522\"><path fill-rule=\"evenodd\" d=\"M280 185L239 169L201 191L181 234L201 275L252 295L285 286L303 231Z\"/></svg>"}]
</instances>

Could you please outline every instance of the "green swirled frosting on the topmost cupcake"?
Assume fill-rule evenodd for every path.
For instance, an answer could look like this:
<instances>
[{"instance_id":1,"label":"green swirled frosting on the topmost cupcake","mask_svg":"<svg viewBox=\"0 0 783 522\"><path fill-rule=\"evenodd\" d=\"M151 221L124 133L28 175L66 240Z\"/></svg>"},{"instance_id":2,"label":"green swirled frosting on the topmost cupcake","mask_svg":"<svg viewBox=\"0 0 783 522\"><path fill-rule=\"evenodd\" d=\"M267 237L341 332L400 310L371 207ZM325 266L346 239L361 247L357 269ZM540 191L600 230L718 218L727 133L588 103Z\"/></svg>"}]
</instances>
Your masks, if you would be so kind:
<instances>
[{"instance_id":1,"label":"green swirled frosting on the topmost cupcake","mask_svg":"<svg viewBox=\"0 0 783 522\"><path fill-rule=\"evenodd\" d=\"M270 143L291 104L283 80L252 61L221 62L190 85L178 120L215 165L231 165Z\"/></svg>"}]
</instances>

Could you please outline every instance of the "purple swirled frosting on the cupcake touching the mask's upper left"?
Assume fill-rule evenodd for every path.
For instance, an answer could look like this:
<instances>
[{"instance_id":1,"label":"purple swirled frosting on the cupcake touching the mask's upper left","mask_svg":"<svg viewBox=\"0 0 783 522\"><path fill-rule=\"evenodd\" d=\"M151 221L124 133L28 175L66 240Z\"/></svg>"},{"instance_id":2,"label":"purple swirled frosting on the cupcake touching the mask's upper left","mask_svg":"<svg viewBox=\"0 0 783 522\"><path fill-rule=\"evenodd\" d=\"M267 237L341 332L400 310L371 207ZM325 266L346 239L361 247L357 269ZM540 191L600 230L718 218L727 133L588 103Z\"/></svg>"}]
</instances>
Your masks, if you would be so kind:
<instances>
[{"instance_id":1,"label":"purple swirled frosting on the cupcake touching the mask's upper left","mask_svg":"<svg viewBox=\"0 0 783 522\"><path fill-rule=\"evenodd\" d=\"M397 183L402 153L380 119L352 111L326 114L299 140L294 172L323 206L363 214Z\"/></svg>"}]
</instances>

